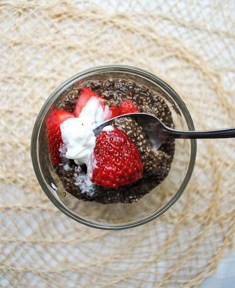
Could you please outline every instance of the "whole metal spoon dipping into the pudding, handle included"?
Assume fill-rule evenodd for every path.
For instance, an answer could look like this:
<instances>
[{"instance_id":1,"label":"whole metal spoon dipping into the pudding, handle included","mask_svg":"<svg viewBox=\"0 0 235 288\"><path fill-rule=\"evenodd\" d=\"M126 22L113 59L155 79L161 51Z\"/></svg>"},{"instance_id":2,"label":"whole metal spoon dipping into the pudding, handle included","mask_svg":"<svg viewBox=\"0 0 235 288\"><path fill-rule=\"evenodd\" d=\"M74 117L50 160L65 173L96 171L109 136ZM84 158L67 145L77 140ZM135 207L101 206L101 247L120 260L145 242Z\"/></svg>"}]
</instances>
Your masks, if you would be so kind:
<instances>
[{"instance_id":1,"label":"whole metal spoon dipping into the pudding, handle included","mask_svg":"<svg viewBox=\"0 0 235 288\"><path fill-rule=\"evenodd\" d=\"M207 131L180 131L167 127L157 117L147 113L130 113L107 120L93 130L95 136L97 136L105 126L112 124L113 120L123 117L131 117L142 126L147 139L154 149L158 149L161 144L169 138L208 139L235 137L235 127Z\"/></svg>"}]
</instances>

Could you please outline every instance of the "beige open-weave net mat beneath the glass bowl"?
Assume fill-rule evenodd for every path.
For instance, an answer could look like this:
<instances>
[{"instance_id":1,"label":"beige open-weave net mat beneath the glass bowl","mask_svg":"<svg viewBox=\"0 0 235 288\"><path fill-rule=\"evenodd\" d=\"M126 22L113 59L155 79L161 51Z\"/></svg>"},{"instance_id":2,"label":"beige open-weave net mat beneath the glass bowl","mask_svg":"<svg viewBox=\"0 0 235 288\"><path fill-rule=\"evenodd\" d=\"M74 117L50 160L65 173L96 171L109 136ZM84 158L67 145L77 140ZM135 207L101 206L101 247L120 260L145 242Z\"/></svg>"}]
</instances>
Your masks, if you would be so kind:
<instances>
[{"instance_id":1,"label":"beige open-weave net mat beneath the glass bowl","mask_svg":"<svg viewBox=\"0 0 235 288\"><path fill-rule=\"evenodd\" d=\"M160 218L85 227L39 187L30 138L45 99L101 64L148 70L197 129L235 126L234 1L0 1L0 286L192 287L232 250L234 139L198 141L193 177Z\"/></svg>"}]
</instances>

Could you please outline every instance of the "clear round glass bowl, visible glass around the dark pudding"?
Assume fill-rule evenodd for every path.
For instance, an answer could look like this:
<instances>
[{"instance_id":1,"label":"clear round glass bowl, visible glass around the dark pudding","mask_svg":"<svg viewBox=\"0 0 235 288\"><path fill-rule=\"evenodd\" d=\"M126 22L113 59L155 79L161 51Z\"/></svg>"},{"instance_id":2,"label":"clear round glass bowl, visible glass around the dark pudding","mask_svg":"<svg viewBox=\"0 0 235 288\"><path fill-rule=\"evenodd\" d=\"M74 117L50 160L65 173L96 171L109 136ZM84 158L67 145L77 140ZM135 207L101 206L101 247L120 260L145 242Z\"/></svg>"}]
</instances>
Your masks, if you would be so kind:
<instances>
[{"instance_id":1,"label":"clear round glass bowl, visible glass around the dark pudding","mask_svg":"<svg viewBox=\"0 0 235 288\"><path fill-rule=\"evenodd\" d=\"M88 80L107 78L133 80L160 94L170 107L176 129L194 130L194 124L185 104L167 83L147 71L124 65L106 65L81 72L61 84L46 100L37 117L31 142L33 167L42 189L63 213L76 221L94 228L117 230L145 224L166 212L178 200L194 169L196 140L175 141L174 160L167 178L136 203L105 205L84 202L64 193L49 158L46 119L75 85L83 86Z\"/></svg>"}]
</instances>

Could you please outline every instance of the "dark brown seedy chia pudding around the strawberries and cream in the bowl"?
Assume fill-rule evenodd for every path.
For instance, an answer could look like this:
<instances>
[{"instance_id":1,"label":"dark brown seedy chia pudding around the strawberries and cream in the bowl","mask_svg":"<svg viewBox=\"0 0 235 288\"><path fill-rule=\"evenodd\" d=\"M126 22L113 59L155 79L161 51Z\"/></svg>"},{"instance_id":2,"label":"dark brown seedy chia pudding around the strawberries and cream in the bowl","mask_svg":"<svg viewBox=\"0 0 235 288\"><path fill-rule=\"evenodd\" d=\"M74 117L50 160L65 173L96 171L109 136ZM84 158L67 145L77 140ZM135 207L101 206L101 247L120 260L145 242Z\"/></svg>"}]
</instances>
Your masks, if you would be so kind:
<instances>
[{"instance_id":1,"label":"dark brown seedy chia pudding around the strawberries and cream in the bowl","mask_svg":"<svg viewBox=\"0 0 235 288\"><path fill-rule=\"evenodd\" d=\"M123 100L130 100L138 107L139 112L152 114L167 126L174 127L168 105L159 95L143 85L123 79L107 79L87 82L84 87L105 98L107 104L112 103L119 106ZM59 108L73 112L79 95L80 88L74 87ZM142 178L132 184L117 188L95 184L92 186L92 192L84 192L81 185L78 185L78 177L86 175L86 165L78 165L74 160L62 157L62 165L55 166L55 171L66 192L83 201L95 201L102 204L132 203L139 201L166 178L174 157L174 140L167 140L157 151L154 151L146 139L143 127L131 117L114 120L113 126L125 131L138 148L144 169ZM61 153L63 156L62 150ZM80 177L79 183L81 184L82 181Z\"/></svg>"}]
</instances>

